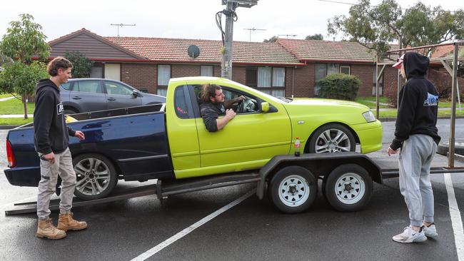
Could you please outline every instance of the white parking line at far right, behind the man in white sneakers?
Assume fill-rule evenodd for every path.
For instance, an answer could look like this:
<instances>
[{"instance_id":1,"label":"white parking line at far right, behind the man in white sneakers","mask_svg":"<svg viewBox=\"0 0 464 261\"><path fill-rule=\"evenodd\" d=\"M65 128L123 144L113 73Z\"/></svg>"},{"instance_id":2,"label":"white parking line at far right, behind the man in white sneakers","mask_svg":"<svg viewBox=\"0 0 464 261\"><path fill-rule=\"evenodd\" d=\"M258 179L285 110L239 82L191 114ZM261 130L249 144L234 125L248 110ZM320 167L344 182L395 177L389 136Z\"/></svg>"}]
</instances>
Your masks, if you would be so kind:
<instances>
[{"instance_id":1,"label":"white parking line at far right, behind the man in white sneakers","mask_svg":"<svg viewBox=\"0 0 464 261\"><path fill-rule=\"evenodd\" d=\"M454 241L456 245L456 252L458 252L458 260L464 261L464 230L463 220L460 217L460 211L456 197L454 194L453 181L451 174L445 173L446 192L448 193L448 204L450 205L451 225L453 226Z\"/></svg>"}]
</instances>

